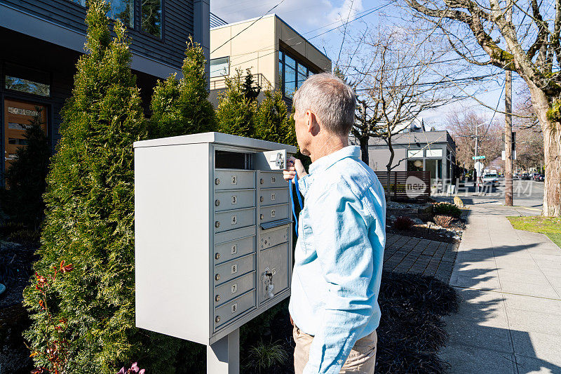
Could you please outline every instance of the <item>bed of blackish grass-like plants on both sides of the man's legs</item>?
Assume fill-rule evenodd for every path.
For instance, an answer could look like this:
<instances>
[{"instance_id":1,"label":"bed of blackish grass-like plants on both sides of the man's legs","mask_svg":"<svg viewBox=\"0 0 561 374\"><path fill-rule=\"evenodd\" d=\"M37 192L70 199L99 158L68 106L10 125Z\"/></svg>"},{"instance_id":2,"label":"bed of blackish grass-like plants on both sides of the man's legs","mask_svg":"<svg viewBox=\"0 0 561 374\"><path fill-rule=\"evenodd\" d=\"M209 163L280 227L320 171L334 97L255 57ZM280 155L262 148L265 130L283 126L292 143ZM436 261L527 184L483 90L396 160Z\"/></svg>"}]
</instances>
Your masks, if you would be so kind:
<instances>
[{"instance_id":1,"label":"bed of blackish grass-like plants on both sides of the man's legs","mask_svg":"<svg viewBox=\"0 0 561 374\"><path fill-rule=\"evenodd\" d=\"M431 276L384 272L378 302L381 321L377 329L376 373L446 373L449 365L438 357L438 350L448 339L442 316L457 312L456 291ZM266 323L257 319L244 326L241 361L246 366L241 373L294 373L288 302L281 303L274 313ZM288 359L260 370L255 365L248 366L251 360L247 352L261 342L283 345Z\"/></svg>"}]
</instances>

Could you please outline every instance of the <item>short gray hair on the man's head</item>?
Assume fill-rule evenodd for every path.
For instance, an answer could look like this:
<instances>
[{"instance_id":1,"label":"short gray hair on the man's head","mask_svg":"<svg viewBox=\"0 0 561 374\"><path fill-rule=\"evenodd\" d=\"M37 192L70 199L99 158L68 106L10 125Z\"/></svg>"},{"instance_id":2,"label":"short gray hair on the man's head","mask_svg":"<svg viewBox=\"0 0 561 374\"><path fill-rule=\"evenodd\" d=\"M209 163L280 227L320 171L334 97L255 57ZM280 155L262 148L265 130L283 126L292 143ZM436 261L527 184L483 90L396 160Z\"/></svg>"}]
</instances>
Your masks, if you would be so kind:
<instances>
[{"instance_id":1,"label":"short gray hair on the man's head","mask_svg":"<svg viewBox=\"0 0 561 374\"><path fill-rule=\"evenodd\" d=\"M311 110L327 131L347 136L355 121L356 98L353 89L330 73L310 76L294 95L300 116Z\"/></svg>"}]
</instances>

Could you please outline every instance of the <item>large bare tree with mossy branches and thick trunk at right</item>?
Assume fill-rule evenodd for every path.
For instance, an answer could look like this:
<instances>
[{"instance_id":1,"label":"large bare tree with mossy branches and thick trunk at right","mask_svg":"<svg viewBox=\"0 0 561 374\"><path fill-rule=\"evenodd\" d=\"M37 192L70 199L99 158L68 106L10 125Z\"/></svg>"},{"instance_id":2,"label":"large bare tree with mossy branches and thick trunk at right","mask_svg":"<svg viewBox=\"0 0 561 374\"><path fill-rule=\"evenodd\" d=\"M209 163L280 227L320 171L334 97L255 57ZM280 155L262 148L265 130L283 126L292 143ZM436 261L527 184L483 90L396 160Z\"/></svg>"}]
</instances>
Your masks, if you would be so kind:
<instances>
[{"instance_id":1,"label":"large bare tree with mossy branches and thick trunk at right","mask_svg":"<svg viewBox=\"0 0 561 374\"><path fill-rule=\"evenodd\" d=\"M541 124L543 215L561 215L561 0L404 0L473 65L518 73ZM513 21L506 14L513 11ZM480 51L486 56L482 60Z\"/></svg>"}]
</instances>

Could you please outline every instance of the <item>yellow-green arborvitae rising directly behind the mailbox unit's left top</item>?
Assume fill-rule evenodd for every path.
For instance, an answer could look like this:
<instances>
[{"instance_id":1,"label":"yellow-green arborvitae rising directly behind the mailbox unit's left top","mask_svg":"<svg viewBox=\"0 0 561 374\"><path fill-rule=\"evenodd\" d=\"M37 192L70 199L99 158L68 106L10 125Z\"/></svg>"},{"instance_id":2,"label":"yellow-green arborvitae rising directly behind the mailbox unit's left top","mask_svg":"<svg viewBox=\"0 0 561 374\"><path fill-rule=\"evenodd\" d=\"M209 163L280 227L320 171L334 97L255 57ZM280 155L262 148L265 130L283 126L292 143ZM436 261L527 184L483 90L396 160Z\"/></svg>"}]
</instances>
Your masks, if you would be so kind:
<instances>
[{"instance_id":1,"label":"yellow-green arborvitae rising directly behind the mailbox unit's left top","mask_svg":"<svg viewBox=\"0 0 561 374\"><path fill-rule=\"evenodd\" d=\"M191 38L187 41L182 72L182 79L173 74L158 81L154 88L151 138L215 131L215 111L208 101L205 55Z\"/></svg>"}]
</instances>

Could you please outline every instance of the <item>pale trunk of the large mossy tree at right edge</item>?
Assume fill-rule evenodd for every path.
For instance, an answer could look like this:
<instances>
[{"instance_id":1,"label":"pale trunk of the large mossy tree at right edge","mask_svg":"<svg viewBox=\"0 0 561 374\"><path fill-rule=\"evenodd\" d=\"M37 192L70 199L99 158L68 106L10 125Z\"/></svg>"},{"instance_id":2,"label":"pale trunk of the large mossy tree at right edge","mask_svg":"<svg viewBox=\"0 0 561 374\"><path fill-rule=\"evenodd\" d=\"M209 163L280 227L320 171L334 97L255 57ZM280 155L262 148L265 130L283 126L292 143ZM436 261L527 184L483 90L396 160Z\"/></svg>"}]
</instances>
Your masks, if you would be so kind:
<instances>
[{"instance_id":1,"label":"pale trunk of the large mossy tree at right edge","mask_svg":"<svg viewBox=\"0 0 561 374\"><path fill-rule=\"evenodd\" d=\"M543 211L546 217L561 216L561 123L550 121L548 98L538 87L527 82L532 95L532 106L543 132L543 156L546 161L546 181L543 182Z\"/></svg>"}]
</instances>

